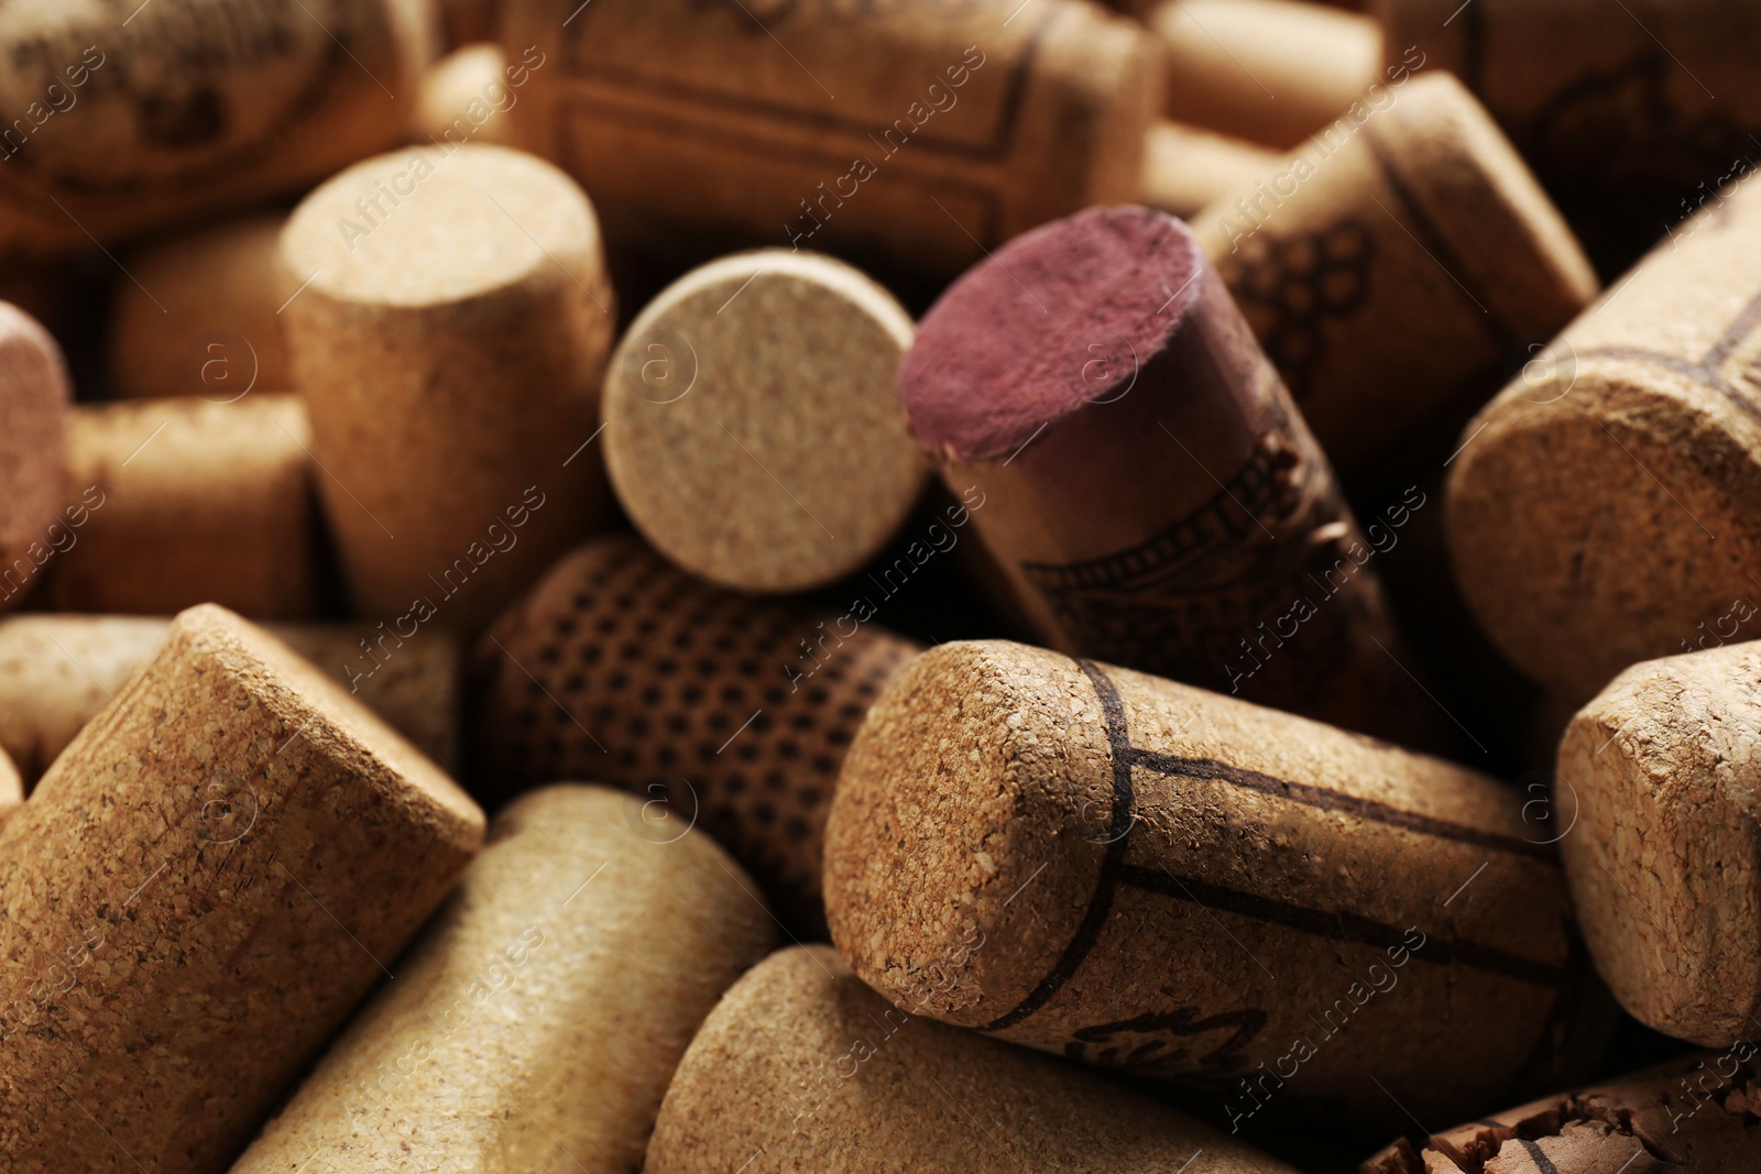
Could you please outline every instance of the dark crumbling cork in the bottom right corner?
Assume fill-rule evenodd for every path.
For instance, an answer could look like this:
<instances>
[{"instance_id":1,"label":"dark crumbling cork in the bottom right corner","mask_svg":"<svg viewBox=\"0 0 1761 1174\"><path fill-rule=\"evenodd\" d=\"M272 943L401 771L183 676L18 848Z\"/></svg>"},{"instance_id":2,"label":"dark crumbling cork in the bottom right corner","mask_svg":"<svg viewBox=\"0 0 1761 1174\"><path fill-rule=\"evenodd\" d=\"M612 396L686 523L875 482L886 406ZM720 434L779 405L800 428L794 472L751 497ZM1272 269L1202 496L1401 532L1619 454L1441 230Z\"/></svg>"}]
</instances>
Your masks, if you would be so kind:
<instances>
[{"instance_id":1,"label":"dark crumbling cork in the bottom right corner","mask_svg":"<svg viewBox=\"0 0 1761 1174\"><path fill-rule=\"evenodd\" d=\"M1756 1046L1682 1060L1402 1139L1361 1174L1750 1174L1761 1167Z\"/></svg>"}]
</instances>

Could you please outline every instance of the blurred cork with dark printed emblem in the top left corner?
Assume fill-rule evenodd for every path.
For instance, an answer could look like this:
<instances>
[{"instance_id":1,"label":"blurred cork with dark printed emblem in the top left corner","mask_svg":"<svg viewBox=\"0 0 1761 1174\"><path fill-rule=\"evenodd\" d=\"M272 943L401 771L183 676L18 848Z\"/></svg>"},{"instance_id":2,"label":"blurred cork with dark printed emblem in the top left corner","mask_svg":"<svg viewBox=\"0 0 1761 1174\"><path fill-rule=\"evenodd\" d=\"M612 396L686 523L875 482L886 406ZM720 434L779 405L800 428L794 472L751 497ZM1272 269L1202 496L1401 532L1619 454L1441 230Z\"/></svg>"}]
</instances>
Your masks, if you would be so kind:
<instances>
[{"instance_id":1,"label":"blurred cork with dark printed emblem in the top left corner","mask_svg":"<svg viewBox=\"0 0 1761 1174\"><path fill-rule=\"evenodd\" d=\"M85 245L321 180L403 134L430 23L414 0L7 5L0 206Z\"/></svg>"}]
</instances>

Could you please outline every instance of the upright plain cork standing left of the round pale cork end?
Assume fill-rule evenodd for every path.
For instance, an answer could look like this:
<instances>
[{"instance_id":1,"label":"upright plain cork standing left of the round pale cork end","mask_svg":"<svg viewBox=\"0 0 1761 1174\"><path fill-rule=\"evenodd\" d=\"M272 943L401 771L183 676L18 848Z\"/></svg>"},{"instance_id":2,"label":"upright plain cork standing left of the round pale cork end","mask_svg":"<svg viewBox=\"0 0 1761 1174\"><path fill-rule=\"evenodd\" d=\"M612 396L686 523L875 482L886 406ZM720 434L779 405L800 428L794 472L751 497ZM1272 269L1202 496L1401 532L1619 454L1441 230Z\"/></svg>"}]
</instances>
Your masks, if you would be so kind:
<instances>
[{"instance_id":1,"label":"upright plain cork standing left of the round pale cork end","mask_svg":"<svg viewBox=\"0 0 1761 1174\"><path fill-rule=\"evenodd\" d=\"M593 437L613 296L565 174L409 148L294 211L282 317L356 609L488 623L608 507Z\"/></svg>"}]
</instances>

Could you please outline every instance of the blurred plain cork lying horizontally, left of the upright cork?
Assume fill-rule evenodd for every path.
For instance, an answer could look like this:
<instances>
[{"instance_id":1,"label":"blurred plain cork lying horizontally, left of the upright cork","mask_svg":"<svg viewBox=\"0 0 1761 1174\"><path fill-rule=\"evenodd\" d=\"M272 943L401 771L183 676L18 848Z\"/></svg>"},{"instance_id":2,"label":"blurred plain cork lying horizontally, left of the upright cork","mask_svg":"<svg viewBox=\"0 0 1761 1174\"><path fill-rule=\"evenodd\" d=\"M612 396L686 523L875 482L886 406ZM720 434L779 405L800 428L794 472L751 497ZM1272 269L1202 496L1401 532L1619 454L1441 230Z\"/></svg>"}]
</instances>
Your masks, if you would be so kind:
<instances>
[{"instance_id":1,"label":"blurred plain cork lying horizontally, left of the upright cork","mask_svg":"<svg viewBox=\"0 0 1761 1174\"><path fill-rule=\"evenodd\" d=\"M294 394L81 405L67 463L92 509L44 569L41 598L148 616L203 602L254 620L317 614L329 570L310 445Z\"/></svg>"}]
</instances>

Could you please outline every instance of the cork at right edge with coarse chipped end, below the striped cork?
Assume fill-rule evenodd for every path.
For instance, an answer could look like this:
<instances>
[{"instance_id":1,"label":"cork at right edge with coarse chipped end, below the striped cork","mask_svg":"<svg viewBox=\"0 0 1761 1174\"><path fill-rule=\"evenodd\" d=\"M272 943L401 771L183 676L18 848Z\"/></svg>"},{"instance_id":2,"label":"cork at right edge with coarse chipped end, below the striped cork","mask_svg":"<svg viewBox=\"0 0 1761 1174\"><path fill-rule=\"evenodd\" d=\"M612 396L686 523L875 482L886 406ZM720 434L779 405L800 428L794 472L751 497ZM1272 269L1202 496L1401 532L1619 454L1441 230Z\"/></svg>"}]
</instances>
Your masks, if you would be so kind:
<instances>
[{"instance_id":1,"label":"cork at right edge with coarse chipped end, below the striped cork","mask_svg":"<svg viewBox=\"0 0 1761 1174\"><path fill-rule=\"evenodd\" d=\"M1708 1047L1761 1012L1761 644L1632 665L1578 711L1553 806L1583 938L1620 1003Z\"/></svg>"}]
</instances>

